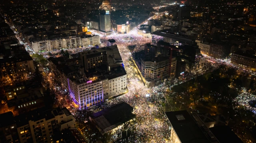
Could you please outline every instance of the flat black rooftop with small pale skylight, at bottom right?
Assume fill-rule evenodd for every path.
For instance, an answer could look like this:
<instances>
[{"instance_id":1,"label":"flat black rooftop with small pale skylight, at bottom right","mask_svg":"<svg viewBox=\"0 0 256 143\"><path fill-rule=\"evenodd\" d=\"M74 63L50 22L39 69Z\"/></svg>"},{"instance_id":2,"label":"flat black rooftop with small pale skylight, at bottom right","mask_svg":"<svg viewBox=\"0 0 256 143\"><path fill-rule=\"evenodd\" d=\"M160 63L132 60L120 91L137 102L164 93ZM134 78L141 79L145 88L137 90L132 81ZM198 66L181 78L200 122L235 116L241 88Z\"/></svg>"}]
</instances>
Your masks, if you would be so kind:
<instances>
[{"instance_id":1,"label":"flat black rooftop with small pale skylight, at bottom right","mask_svg":"<svg viewBox=\"0 0 256 143\"><path fill-rule=\"evenodd\" d=\"M210 143L186 110L166 112L165 114L181 143Z\"/></svg>"}]
</instances>

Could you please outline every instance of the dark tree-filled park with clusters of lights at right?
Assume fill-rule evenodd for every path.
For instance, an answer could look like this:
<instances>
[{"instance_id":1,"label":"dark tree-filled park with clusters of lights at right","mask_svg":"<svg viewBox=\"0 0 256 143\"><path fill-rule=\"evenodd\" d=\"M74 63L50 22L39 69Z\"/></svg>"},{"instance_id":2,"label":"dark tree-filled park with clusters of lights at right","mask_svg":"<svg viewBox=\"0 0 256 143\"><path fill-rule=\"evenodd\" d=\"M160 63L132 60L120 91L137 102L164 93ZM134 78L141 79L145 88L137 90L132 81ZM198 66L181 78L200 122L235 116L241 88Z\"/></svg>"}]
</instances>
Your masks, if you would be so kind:
<instances>
[{"instance_id":1,"label":"dark tree-filled park with clusters of lights at right","mask_svg":"<svg viewBox=\"0 0 256 143\"><path fill-rule=\"evenodd\" d=\"M250 128L256 122L254 82L254 76L222 66L168 89L165 96L172 109L164 106L166 111L188 110L223 115L233 131L248 142L256 136L256 129Z\"/></svg>"}]
</instances>

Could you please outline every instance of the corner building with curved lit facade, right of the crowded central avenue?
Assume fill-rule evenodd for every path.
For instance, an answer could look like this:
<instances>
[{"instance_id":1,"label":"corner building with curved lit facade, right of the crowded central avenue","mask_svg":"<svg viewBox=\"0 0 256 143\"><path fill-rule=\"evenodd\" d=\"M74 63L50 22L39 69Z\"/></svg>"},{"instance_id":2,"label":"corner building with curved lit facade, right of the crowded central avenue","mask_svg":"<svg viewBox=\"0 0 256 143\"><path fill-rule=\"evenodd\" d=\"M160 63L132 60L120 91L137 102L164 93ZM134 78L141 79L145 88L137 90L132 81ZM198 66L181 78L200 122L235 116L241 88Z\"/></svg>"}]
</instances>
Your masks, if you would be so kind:
<instances>
[{"instance_id":1,"label":"corner building with curved lit facade, right of the crowded central avenue","mask_svg":"<svg viewBox=\"0 0 256 143\"><path fill-rule=\"evenodd\" d=\"M142 76L148 82L161 81L175 76L176 57L172 57L170 69L170 56L168 52L162 52L161 48L147 44L144 51L136 52L132 57Z\"/></svg>"}]
</instances>

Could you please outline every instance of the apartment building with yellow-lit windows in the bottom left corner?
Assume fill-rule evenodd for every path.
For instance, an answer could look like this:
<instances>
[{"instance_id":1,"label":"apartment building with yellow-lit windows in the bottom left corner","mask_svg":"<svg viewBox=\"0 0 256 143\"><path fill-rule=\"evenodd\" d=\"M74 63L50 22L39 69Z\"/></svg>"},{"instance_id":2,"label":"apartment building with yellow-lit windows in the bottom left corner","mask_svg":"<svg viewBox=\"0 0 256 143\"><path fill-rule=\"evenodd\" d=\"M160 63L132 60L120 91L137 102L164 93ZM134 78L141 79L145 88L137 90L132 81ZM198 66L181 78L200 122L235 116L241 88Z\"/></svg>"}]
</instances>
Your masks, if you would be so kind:
<instances>
[{"instance_id":1,"label":"apartment building with yellow-lit windows in the bottom left corner","mask_svg":"<svg viewBox=\"0 0 256 143\"><path fill-rule=\"evenodd\" d=\"M14 118L20 143L53 143L55 133L75 128L75 118L67 108L40 108Z\"/></svg>"}]
</instances>

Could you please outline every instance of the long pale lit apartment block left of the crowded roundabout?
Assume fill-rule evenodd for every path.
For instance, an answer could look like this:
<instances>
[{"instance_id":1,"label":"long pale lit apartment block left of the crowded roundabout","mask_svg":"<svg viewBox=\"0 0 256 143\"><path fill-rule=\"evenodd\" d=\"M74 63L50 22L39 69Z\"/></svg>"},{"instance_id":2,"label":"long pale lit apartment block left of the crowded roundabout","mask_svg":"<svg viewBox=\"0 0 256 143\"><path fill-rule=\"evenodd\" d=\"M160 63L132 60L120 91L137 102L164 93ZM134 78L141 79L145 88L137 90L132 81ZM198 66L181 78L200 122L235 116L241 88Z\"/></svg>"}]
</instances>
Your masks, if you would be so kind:
<instances>
[{"instance_id":1,"label":"long pale lit apartment block left of the crowded roundabout","mask_svg":"<svg viewBox=\"0 0 256 143\"><path fill-rule=\"evenodd\" d=\"M75 35L69 37L60 37L40 41L31 41L31 47L35 52L54 51L59 49L70 49L77 47L86 47L89 45L100 45L100 36L98 35Z\"/></svg>"}]
</instances>

